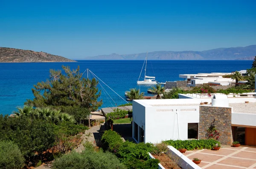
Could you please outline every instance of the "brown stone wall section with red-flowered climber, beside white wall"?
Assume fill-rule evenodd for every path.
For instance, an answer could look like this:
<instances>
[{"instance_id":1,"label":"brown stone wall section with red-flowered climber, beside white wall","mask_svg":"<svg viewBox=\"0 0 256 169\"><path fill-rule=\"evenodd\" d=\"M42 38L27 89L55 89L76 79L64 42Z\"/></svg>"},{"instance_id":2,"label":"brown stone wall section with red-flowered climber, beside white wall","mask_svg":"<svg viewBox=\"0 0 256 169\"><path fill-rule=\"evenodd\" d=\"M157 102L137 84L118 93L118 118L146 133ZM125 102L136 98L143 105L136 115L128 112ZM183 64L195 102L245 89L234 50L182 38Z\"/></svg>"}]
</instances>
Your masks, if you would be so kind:
<instances>
[{"instance_id":1,"label":"brown stone wall section with red-flowered climber, beside white wall","mask_svg":"<svg viewBox=\"0 0 256 169\"><path fill-rule=\"evenodd\" d=\"M231 131L231 108L230 107L213 107L200 106L199 109L199 139L208 139L207 130L211 125L219 132L218 141L221 144L231 145L233 142Z\"/></svg>"}]
</instances>

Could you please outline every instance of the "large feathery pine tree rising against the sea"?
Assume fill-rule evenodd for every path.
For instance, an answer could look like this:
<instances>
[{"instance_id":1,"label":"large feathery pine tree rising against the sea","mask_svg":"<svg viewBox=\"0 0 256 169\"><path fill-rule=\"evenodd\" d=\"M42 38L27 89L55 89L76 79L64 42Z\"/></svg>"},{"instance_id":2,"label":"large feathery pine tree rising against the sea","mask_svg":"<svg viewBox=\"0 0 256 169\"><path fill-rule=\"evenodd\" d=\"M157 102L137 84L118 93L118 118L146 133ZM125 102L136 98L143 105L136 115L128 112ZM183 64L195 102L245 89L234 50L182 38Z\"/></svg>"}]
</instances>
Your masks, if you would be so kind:
<instances>
[{"instance_id":1,"label":"large feathery pine tree rising against the sea","mask_svg":"<svg viewBox=\"0 0 256 169\"><path fill-rule=\"evenodd\" d=\"M69 66L62 66L62 69L64 73L61 70L50 70L50 78L46 82L34 85L32 93L35 98L27 99L25 104L34 107L53 107L61 109L64 113L73 107L87 115L88 112L97 110L102 105L102 100L98 101L101 95L97 87L99 82L94 78L90 80L82 77L83 73L79 72L79 66L75 70L70 70Z\"/></svg>"}]
</instances>

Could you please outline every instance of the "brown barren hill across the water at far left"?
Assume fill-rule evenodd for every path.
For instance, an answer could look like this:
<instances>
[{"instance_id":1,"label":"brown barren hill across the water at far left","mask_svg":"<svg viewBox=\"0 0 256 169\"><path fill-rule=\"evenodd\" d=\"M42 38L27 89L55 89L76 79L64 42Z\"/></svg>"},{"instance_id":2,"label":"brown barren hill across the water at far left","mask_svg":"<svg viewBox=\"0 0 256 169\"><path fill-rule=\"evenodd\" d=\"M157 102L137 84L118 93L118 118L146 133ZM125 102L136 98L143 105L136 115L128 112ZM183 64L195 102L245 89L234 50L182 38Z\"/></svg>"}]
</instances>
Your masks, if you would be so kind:
<instances>
[{"instance_id":1,"label":"brown barren hill across the water at far left","mask_svg":"<svg viewBox=\"0 0 256 169\"><path fill-rule=\"evenodd\" d=\"M0 62L76 62L58 55L0 47Z\"/></svg>"}]
</instances>

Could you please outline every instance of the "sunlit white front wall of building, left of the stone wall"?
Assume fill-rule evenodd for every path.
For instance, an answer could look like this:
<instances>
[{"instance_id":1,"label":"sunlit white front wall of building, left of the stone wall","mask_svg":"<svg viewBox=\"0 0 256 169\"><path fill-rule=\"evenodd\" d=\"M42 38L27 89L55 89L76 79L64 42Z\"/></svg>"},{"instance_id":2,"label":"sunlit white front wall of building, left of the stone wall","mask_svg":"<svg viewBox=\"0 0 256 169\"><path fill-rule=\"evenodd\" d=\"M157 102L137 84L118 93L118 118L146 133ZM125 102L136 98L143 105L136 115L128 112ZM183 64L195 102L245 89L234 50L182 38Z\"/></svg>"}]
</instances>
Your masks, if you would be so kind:
<instances>
[{"instance_id":1,"label":"sunlit white front wall of building, left of the stone wall","mask_svg":"<svg viewBox=\"0 0 256 169\"><path fill-rule=\"evenodd\" d=\"M199 123L199 106L146 107L145 143L187 140L188 123Z\"/></svg>"}]
</instances>

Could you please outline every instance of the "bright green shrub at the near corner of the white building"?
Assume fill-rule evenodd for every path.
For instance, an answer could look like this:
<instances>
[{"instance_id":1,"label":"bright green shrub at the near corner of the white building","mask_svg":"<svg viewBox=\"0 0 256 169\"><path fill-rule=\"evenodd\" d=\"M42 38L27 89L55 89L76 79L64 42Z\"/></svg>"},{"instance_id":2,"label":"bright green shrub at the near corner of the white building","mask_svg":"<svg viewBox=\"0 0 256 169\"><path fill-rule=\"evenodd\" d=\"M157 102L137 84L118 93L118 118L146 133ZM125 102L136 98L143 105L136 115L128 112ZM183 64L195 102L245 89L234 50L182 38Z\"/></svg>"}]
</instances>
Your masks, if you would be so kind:
<instances>
[{"instance_id":1,"label":"bright green shrub at the near corner of the white building","mask_svg":"<svg viewBox=\"0 0 256 169\"><path fill-rule=\"evenodd\" d=\"M133 158L148 160L148 152L151 152L152 144L149 143L139 143L135 144L133 142L125 141L116 152L116 156L120 161L130 161Z\"/></svg>"}]
</instances>

